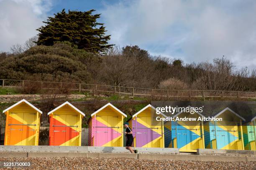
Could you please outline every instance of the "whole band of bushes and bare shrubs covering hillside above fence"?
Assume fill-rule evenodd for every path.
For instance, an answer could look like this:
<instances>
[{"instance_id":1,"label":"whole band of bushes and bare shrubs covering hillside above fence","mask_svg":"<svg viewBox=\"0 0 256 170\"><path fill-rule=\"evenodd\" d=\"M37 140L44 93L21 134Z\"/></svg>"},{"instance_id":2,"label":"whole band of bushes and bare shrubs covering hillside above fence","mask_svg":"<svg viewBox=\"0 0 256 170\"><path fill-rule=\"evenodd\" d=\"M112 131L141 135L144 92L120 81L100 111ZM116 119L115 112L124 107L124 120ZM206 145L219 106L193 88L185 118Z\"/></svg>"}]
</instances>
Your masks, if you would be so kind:
<instances>
[{"instance_id":1,"label":"whole band of bushes and bare shrubs covering hillside above fence","mask_svg":"<svg viewBox=\"0 0 256 170\"><path fill-rule=\"evenodd\" d=\"M78 50L70 42L39 45L18 55L0 55L0 78L88 82L169 90L256 91L256 70L236 70L225 57L184 64L151 56L138 46L105 55Z\"/></svg>"}]
</instances>

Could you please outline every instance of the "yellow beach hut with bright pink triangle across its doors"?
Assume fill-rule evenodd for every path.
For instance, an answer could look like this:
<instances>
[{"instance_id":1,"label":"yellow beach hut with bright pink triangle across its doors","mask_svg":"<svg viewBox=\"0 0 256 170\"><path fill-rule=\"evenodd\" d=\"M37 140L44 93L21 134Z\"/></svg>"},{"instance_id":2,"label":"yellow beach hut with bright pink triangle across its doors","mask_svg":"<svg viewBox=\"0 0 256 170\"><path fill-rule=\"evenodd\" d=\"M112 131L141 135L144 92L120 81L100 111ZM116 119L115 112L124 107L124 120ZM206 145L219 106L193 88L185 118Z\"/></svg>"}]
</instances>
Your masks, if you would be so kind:
<instances>
[{"instance_id":1,"label":"yellow beach hut with bright pink triangle across its doors","mask_svg":"<svg viewBox=\"0 0 256 170\"><path fill-rule=\"evenodd\" d=\"M92 113L89 120L90 146L123 146L123 119L127 117L108 103Z\"/></svg>"}]
</instances>

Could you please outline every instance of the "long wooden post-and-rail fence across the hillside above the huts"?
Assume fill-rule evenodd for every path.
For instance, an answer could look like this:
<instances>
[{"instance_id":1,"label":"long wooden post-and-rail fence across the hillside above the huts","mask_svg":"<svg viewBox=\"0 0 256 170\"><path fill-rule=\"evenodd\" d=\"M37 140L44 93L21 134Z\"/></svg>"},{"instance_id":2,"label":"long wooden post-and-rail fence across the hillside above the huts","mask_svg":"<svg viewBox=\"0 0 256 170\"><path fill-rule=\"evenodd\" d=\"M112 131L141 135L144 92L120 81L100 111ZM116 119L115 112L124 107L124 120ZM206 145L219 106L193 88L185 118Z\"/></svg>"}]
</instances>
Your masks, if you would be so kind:
<instances>
[{"instance_id":1,"label":"long wooden post-and-rail fence across the hillside above the huts","mask_svg":"<svg viewBox=\"0 0 256 170\"><path fill-rule=\"evenodd\" d=\"M93 91L93 92L109 92L114 94L146 97L164 97L166 99L174 97L196 97L205 100L207 97L233 97L233 98L252 98L256 99L256 92L241 92L241 91L225 91L225 90L164 90L164 89L150 89L141 87L124 87L112 85L97 85L86 83L73 83L73 82L47 82L47 81L32 81L32 80L11 80L0 79L0 86L5 87L27 87L31 84L41 86L41 89L58 89L69 88L71 90Z\"/></svg>"}]
</instances>

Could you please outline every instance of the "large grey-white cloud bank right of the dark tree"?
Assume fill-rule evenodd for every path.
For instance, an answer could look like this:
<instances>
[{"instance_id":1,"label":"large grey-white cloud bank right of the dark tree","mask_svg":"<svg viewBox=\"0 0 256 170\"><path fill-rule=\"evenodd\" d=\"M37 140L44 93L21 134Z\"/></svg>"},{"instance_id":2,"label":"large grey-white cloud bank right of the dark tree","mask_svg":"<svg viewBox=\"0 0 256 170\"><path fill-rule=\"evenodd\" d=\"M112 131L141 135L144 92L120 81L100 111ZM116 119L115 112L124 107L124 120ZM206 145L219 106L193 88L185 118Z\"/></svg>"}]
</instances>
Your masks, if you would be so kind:
<instances>
[{"instance_id":1,"label":"large grey-white cloud bank right of the dark tree","mask_svg":"<svg viewBox=\"0 0 256 170\"><path fill-rule=\"evenodd\" d=\"M111 43L185 62L225 55L237 67L256 68L255 0L125 0L100 13Z\"/></svg>"}]
</instances>

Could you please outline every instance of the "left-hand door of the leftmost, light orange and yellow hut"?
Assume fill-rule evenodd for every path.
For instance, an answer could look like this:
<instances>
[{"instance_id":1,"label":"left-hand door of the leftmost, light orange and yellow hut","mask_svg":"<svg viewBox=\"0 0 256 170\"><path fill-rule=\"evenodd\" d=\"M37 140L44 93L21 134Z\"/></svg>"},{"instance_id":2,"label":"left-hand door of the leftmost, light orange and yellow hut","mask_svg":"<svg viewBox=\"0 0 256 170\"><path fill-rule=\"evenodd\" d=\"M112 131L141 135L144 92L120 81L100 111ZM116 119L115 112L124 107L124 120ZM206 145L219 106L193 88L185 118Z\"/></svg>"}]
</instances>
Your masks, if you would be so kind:
<instances>
[{"instance_id":1,"label":"left-hand door of the leftmost, light orange and yellow hut","mask_svg":"<svg viewBox=\"0 0 256 170\"><path fill-rule=\"evenodd\" d=\"M8 140L8 145L15 145L22 141L22 132L23 132L23 113L10 113L11 117L10 123L10 138ZM18 144L18 145L21 145Z\"/></svg>"}]
</instances>

